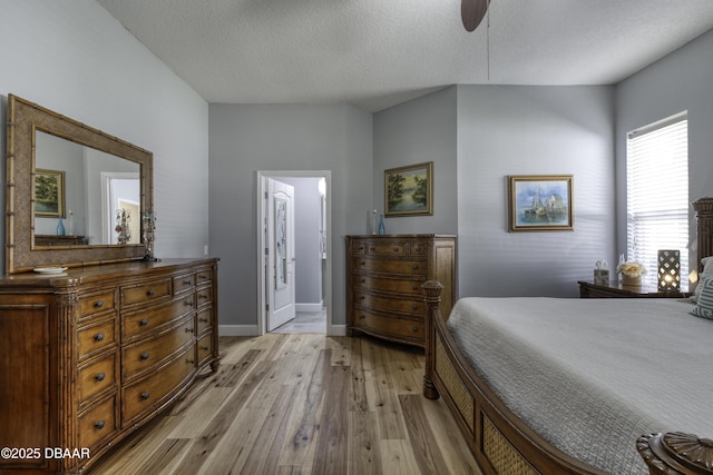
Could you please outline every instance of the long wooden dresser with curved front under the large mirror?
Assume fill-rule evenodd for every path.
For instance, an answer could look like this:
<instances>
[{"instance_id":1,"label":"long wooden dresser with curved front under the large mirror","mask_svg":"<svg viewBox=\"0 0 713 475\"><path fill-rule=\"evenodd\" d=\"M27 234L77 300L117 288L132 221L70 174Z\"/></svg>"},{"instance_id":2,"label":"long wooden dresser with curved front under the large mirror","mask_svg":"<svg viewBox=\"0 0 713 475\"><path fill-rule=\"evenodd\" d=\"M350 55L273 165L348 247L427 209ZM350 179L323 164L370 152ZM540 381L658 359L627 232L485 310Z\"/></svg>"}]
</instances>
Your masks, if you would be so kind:
<instances>
[{"instance_id":1,"label":"long wooden dresser with curved front under the large mirror","mask_svg":"<svg viewBox=\"0 0 713 475\"><path fill-rule=\"evenodd\" d=\"M217 259L0 278L0 473L87 468L216 370L217 337Z\"/></svg>"}]
</instances>

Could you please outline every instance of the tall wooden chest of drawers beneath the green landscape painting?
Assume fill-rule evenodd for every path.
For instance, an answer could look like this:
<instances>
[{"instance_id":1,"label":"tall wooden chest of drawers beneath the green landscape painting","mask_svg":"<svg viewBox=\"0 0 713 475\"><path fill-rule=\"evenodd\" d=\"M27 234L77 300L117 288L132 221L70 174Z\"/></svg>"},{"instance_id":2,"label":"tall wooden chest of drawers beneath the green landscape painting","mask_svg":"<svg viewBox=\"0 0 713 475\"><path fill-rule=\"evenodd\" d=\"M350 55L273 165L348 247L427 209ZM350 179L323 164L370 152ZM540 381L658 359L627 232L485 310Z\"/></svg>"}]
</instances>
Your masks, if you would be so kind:
<instances>
[{"instance_id":1,"label":"tall wooden chest of drawers beneath the green landscape painting","mask_svg":"<svg viewBox=\"0 0 713 475\"><path fill-rule=\"evenodd\" d=\"M456 236L346 236L346 330L423 347L421 285L443 284L441 309L456 298Z\"/></svg>"}]
</instances>

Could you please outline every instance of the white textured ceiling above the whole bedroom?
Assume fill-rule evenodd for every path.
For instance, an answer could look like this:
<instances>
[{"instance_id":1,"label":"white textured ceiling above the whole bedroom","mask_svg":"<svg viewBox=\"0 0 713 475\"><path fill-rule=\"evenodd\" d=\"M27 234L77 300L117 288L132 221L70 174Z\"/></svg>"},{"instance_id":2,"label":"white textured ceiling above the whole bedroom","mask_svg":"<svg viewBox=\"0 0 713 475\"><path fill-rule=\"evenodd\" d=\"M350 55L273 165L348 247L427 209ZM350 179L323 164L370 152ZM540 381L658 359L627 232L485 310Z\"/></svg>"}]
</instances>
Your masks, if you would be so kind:
<instances>
[{"instance_id":1,"label":"white textured ceiling above the whole bedroom","mask_svg":"<svg viewBox=\"0 0 713 475\"><path fill-rule=\"evenodd\" d=\"M713 28L713 0L97 0L208 102L378 111L455 83L608 85Z\"/></svg>"}]
</instances>

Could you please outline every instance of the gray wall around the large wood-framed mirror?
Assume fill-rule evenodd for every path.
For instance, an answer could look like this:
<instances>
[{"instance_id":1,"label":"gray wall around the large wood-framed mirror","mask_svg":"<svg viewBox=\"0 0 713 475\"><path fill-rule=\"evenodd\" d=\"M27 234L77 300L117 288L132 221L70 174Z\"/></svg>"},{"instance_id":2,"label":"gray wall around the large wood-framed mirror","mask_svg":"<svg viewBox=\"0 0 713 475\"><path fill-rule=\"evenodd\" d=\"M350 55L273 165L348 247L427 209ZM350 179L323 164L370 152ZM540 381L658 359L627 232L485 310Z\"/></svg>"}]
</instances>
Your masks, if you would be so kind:
<instances>
[{"instance_id":1,"label":"gray wall around the large wood-framed mirror","mask_svg":"<svg viewBox=\"0 0 713 475\"><path fill-rule=\"evenodd\" d=\"M0 48L1 123L7 121L7 95L14 93L150 150L156 255L203 256L208 244L207 102L94 0L2 0L0 10L8 39ZM0 150L4 157L4 132ZM4 198L0 194L2 209ZM0 236L4 247L4 219Z\"/></svg>"}]
</instances>

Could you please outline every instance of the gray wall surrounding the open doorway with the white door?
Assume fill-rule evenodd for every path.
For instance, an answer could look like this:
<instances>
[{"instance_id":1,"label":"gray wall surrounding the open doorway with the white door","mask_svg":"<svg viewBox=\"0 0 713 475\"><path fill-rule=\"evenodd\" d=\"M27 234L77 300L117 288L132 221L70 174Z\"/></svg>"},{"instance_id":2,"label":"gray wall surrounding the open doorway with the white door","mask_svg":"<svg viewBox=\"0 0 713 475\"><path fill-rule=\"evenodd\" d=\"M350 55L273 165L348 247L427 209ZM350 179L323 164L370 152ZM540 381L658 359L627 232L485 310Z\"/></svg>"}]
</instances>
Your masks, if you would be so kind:
<instances>
[{"instance_id":1,"label":"gray wall surrounding the open doorway with the white door","mask_svg":"<svg viewBox=\"0 0 713 475\"><path fill-rule=\"evenodd\" d=\"M256 171L331 170L332 323L344 325L344 235L364 231L371 206L371 113L351 106L214 103L209 132L221 324L231 333L256 330Z\"/></svg>"}]
</instances>

